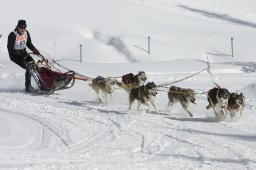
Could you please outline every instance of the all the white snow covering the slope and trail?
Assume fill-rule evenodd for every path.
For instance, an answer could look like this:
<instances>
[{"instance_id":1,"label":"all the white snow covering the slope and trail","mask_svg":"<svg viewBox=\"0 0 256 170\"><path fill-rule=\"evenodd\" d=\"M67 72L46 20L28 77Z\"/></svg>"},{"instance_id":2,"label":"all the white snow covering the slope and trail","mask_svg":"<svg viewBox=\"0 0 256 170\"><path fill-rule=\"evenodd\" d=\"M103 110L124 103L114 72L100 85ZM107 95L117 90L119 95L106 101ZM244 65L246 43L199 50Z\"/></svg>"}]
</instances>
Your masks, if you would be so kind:
<instances>
[{"instance_id":1,"label":"all the white snow covering the slope and trail","mask_svg":"<svg viewBox=\"0 0 256 170\"><path fill-rule=\"evenodd\" d=\"M15 0L2 6L0 169L256 169L256 2ZM44 56L92 78L119 79L143 70L148 81L160 85L207 68L207 61L212 77L204 71L175 84L198 93L189 107L192 118L179 104L168 108L165 91L155 99L160 114L146 107L139 113L136 102L129 111L122 89L115 103L100 104L89 81L77 80L52 95L26 93L25 71L6 49L19 19L27 20ZM218 119L206 109L202 93L213 81L244 94L241 118Z\"/></svg>"}]
</instances>

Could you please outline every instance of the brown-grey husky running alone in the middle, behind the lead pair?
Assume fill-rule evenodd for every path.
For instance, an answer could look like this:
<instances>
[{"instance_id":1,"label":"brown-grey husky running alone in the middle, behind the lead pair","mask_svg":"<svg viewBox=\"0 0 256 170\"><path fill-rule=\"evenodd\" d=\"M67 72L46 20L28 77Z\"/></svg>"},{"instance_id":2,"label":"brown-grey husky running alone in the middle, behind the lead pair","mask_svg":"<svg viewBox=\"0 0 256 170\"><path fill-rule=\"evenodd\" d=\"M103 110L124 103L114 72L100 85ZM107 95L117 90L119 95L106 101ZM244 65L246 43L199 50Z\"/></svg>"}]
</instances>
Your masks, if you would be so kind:
<instances>
[{"instance_id":1,"label":"brown-grey husky running alone in the middle, behind the lead pair","mask_svg":"<svg viewBox=\"0 0 256 170\"><path fill-rule=\"evenodd\" d=\"M193 114L188 110L189 103L195 103L195 93L192 89L184 89L176 86L171 86L168 92L168 106L173 106L179 102L182 108L193 117Z\"/></svg>"}]
</instances>

